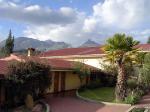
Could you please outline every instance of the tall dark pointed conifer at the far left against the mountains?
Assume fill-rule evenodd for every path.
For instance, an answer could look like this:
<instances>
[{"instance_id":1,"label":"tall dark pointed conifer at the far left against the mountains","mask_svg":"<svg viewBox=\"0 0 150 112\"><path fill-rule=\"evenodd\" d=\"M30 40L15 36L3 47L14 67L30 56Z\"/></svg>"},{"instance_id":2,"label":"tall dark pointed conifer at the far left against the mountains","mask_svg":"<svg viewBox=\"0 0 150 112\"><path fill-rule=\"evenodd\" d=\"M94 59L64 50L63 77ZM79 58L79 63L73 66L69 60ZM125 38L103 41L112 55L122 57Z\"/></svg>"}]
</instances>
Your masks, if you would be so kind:
<instances>
[{"instance_id":1,"label":"tall dark pointed conifer at the far left against the mountains","mask_svg":"<svg viewBox=\"0 0 150 112\"><path fill-rule=\"evenodd\" d=\"M13 53L13 49L14 49L14 36L12 36L12 32L10 30L8 38L6 39L6 43L5 43L6 55L10 55L11 53Z\"/></svg>"}]
</instances>

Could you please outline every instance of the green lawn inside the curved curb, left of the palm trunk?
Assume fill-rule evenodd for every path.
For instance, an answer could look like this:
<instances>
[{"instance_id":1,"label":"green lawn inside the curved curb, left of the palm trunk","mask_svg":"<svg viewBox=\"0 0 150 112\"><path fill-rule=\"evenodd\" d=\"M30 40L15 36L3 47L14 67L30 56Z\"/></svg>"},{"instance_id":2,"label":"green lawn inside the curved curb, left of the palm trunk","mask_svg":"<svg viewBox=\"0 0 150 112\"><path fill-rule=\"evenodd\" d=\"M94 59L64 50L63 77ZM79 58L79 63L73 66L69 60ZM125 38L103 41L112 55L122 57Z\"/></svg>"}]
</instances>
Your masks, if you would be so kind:
<instances>
[{"instance_id":1,"label":"green lawn inside the curved curb, left of the palm trunk","mask_svg":"<svg viewBox=\"0 0 150 112\"><path fill-rule=\"evenodd\" d=\"M101 87L96 89L86 89L85 91L80 91L79 95L96 101L114 102L115 88Z\"/></svg>"}]
</instances>

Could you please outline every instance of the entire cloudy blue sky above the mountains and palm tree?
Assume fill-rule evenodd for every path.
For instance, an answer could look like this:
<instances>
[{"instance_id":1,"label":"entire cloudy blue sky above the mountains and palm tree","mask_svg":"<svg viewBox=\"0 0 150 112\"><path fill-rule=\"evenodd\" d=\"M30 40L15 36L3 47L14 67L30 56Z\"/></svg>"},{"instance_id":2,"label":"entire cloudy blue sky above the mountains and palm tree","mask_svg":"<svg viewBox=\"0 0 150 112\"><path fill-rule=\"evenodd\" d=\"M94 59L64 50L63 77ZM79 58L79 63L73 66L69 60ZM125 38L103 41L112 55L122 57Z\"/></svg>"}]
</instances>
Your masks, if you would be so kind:
<instances>
[{"instance_id":1,"label":"entire cloudy blue sky above the mountains and palm tree","mask_svg":"<svg viewBox=\"0 0 150 112\"><path fill-rule=\"evenodd\" d=\"M150 36L150 0L0 0L0 40L15 37L104 43L114 33Z\"/></svg>"}]
</instances>

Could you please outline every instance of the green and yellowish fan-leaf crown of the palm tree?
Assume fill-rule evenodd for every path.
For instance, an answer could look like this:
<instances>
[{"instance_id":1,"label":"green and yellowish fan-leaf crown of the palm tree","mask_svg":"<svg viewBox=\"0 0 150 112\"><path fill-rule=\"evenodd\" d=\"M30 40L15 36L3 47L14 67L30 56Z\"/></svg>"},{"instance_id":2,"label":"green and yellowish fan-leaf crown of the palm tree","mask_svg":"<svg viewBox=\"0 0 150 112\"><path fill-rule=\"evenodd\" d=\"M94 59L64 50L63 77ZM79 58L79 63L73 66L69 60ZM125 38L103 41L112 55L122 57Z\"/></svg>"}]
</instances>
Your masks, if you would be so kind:
<instances>
[{"instance_id":1,"label":"green and yellowish fan-leaf crown of the palm tree","mask_svg":"<svg viewBox=\"0 0 150 112\"><path fill-rule=\"evenodd\" d=\"M124 63L135 59L134 55L137 52L139 41L133 40L132 37L125 34L115 34L112 38L107 40L104 46L104 51L107 54L106 60L111 63Z\"/></svg>"}]
</instances>

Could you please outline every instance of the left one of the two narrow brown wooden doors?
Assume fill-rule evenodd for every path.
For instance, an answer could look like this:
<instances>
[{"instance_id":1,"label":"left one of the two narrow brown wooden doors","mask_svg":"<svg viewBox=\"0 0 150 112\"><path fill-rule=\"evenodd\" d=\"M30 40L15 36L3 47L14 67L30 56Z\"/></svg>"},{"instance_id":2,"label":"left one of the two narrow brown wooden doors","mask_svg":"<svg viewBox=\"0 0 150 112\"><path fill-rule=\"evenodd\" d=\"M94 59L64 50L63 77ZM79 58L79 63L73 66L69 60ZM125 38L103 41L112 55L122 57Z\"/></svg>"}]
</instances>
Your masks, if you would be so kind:
<instances>
[{"instance_id":1,"label":"left one of the two narrow brown wooden doors","mask_svg":"<svg viewBox=\"0 0 150 112\"><path fill-rule=\"evenodd\" d=\"M59 72L54 74L54 93L59 92Z\"/></svg>"}]
</instances>

